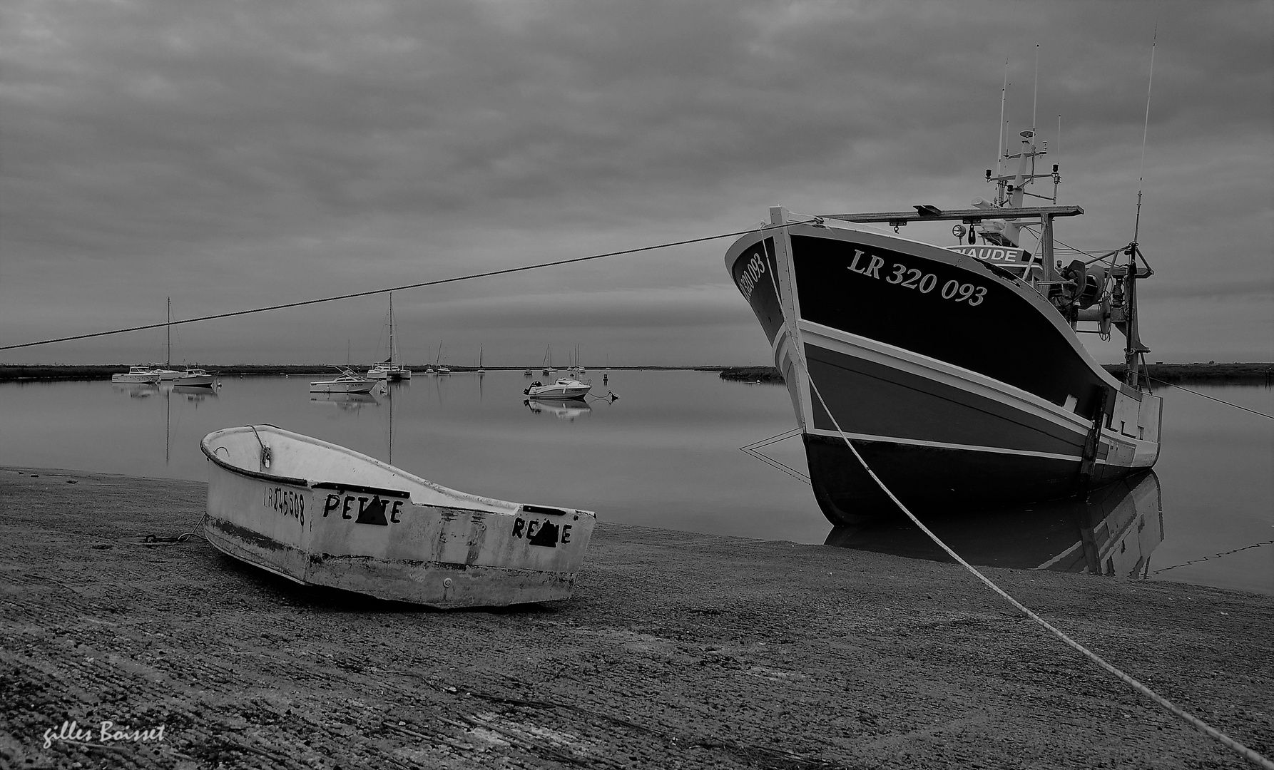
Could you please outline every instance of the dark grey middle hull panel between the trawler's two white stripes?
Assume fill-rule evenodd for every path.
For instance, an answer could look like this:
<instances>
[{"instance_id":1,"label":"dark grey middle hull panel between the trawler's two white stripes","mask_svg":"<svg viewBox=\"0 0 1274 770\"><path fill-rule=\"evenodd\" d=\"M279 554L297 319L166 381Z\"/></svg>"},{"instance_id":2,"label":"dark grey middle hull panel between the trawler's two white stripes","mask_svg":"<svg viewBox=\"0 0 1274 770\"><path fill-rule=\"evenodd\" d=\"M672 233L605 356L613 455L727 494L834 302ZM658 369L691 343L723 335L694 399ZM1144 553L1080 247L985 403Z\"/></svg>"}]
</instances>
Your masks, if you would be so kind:
<instances>
[{"instance_id":1,"label":"dark grey middle hull panel between the trawler's two white stripes","mask_svg":"<svg viewBox=\"0 0 1274 770\"><path fill-rule=\"evenodd\" d=\"M966 444L1080 456L1084 434L959 388L805 345L814 387L840 429L943 444ZM818 398L810 398L813 426L836 430Z\"/></svg>"}]
</instances>

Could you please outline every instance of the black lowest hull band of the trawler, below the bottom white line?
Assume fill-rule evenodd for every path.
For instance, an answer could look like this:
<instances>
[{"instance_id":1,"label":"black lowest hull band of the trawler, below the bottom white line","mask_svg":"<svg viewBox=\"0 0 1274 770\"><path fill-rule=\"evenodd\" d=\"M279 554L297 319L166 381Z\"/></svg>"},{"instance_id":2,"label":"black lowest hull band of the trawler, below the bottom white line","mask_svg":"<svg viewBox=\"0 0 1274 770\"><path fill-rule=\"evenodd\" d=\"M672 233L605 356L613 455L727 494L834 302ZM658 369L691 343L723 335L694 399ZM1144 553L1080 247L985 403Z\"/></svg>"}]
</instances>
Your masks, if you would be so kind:
<instances>
[{"instance_id":1,"label":"black lowest hull band of the trawler, below the bottom white line","mask_svg":"<svg viewBox=\"0 0 1274 770\"><path fill-rule=\"evenodd\" d=\"M809 475L823 515L854 524L880 515L902 515L862 470L845 440L805 434ZM912 513L944 514L1065 498L1084 491L1079 461L991 454L938 447L855 440L854 447ZM1101 465L1088 486L1135 472Z\"/></svg>"}]
</instances>

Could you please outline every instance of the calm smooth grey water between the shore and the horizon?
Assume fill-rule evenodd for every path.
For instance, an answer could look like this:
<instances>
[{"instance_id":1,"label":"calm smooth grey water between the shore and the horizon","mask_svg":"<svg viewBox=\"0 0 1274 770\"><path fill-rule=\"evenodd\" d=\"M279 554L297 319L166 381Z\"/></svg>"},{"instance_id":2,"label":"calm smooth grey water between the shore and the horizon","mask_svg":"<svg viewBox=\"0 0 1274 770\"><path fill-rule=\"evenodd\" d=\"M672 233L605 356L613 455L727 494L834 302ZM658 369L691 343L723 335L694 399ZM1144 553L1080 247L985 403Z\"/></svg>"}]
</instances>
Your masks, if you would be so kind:
<instances>
[{"instance_id":1,"label":"calm smooth grey water between the shore and the horizon","mask_svg":"<svg viewBox=\"0 0 1274 770\"><path fill-rule=\"evenodd\" d=\"M739 451L795 425L781 386L662 370L614 370L601 384L601 374L589 374L594 392L620 398L583 406L524 403L520 370L418 374L372 397L311 395L307 377L229 377L211 393L5 383L0 465L203 481L200 438L273 423L446 486L587 508L603 521L934 557L908 527L829 532L806 484ZM1269 388L1189 387L1274 414ZM1164 448L1149 479L1087 507L995 512L939 533L978 564L1274 594L1274 420L1175 388L1162 395ZM763 452L805 471L799 439Z\"/></svg>"}]
</instances>

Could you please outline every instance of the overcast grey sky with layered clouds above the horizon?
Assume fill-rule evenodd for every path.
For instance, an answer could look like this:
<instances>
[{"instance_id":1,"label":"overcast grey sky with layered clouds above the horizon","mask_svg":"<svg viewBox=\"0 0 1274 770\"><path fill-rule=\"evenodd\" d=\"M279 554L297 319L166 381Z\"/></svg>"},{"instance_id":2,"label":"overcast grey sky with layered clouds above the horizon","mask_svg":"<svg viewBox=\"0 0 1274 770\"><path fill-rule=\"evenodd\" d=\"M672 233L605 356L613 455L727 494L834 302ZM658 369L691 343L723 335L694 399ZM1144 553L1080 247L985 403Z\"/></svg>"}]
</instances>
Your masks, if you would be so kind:
<instances>
[{"instance_id":1,"label":"overcast grey sky with layered clouds above the horizon","mask_svg":"<svg viewBox=\"0 0 1274 770\"><path fill-rule=\"evenodd\" d=\"M1031 127L1038 43L1040 134L1088 211L1059 238L1125 244L1144 187L1150 359L1274 360L1271 9L6 0L0 345L163 322L169 297L191 318L735 232L778 204L967 206L990 197L1005 60L1009 130ZM396 293L401 358L769 363L729 243ZM369 361L387 302L176 327L172 358ZM0 361L162 360L163 340Z\"/></svg>"}]
</instances>

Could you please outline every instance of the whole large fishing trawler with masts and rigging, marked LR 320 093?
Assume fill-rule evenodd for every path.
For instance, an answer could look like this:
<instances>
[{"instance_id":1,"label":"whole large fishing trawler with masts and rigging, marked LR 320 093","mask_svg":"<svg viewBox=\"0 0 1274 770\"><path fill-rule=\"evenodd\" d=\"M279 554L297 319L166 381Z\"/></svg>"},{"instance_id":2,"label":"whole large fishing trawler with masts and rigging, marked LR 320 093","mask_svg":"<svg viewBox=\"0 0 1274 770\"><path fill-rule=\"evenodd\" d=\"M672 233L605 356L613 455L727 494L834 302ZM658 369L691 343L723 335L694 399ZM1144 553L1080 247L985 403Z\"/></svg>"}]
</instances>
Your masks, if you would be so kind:
<instances>
[{"instance_id":1,"label":"whole large fishing trawler with masts and rigging, marked LR 320 093","mask_svg":"<svg viewBox=\"0 0 1274 770\"><path fill-rule=\"evenodd\" d=\"M1018 153L1003 148L1000 173L986 172L992 201L805 218L773 207L726 252L833 524L898 512L882 485L913 512L986 508L1082 494L1158 458L1162 400L1136 308L1152 270L1136 230L1063 265L1055 221L1084 210L1056 204L1057 165L1036 173L1047 143L1033 130ZM1038 178L1051 178L1051 197L1027 192ZM948 221L956 243L901 234ZM1122 381L1078 336L1112 328L1126 340Z\"/></svg>"}]
</instances>

